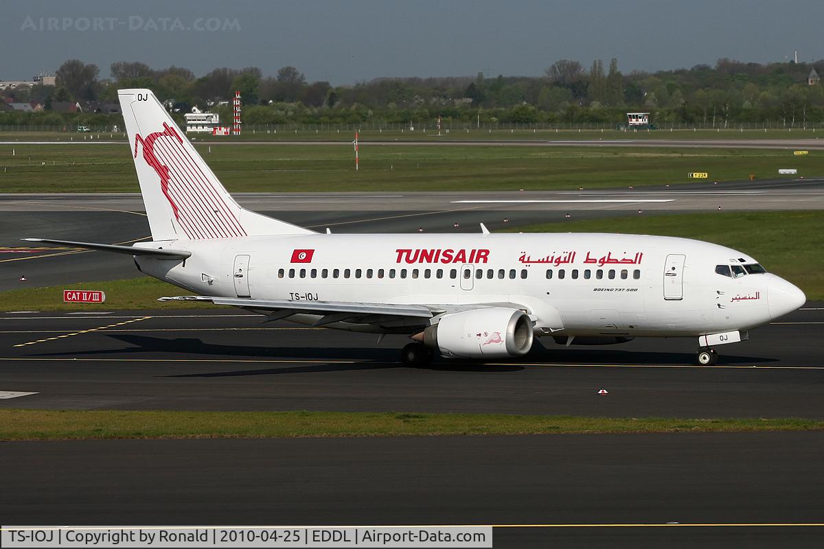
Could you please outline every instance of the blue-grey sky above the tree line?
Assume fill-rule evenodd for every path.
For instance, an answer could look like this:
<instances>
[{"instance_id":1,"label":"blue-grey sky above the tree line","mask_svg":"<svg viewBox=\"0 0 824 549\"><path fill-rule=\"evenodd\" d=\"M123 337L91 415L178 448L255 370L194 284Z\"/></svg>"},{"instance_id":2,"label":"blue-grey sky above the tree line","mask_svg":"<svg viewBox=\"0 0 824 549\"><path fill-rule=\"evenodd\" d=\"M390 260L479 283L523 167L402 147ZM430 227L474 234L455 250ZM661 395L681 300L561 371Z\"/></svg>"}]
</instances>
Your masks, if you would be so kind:
<instances>
[{"instance_id":1,"label":"blue-grey sky above the tree line","mask_svg":"<svg viewBox=\"0 0 824 549\"><path fill-rule=\"evenodd\" d=\"M101 67L293 65L307 80L537 76L561 58L588 67L691 67L722 57L824 58L824 1L303 0L0 2L0 80L54 72L68 58Z\"/></svg>"}]
</instances>

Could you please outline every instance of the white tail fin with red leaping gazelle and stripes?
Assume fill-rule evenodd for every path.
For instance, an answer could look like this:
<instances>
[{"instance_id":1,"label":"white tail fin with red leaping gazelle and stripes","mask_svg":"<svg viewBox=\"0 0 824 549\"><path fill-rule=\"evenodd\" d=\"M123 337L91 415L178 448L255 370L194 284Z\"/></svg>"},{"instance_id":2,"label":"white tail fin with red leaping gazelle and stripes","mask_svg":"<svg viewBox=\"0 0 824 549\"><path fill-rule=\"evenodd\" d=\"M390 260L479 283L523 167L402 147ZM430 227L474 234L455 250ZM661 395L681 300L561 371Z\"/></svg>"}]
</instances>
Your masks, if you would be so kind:
<instances>
[{"instance_id":1,"label":"white tail fin with red leaping gazelle and stripes","mask_svg":"<svg viewBox=\"0 0 824 549\"><path fill-rule=\"evenodd\" d=\"M152 240L313 233L235 202L151 90L117 93Z\"/></svg>"}]
</instances>

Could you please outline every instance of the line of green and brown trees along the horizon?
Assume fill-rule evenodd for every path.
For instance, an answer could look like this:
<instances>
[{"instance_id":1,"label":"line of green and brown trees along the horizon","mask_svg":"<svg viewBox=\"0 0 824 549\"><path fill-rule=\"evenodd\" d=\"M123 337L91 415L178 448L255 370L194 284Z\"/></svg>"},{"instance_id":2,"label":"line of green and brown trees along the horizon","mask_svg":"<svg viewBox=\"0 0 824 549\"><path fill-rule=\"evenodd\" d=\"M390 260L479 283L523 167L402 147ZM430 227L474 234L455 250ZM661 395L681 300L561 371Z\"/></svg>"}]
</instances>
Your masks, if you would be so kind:
<instances>
[{"instance_id":1,"label":"line of green and brown trees along the horizon","mask_svg":"<svg viewBox=\"0 0 824 549\"><path fill-rule=\"evenodd\" d=\"M178 118L193 106L217 109L241 92L244 123L622 123L629 111L651 113L653 123L729 128L736 123L786 127L824 122L824 86L808 85L824 63L744 63L719 59L676 70L620 72L596 59L561 59L540 77L375 78L353 86L307 81L296 67L266 76L259 67L219 67L202 77L185 67L155 69L118 62L101 79L94 64L70 59L55 72L55 86L19 86L2 92L15 102L36 101L39 113L0 112L3 124L59 124L55 101L116 102L120 88L152 89ZM824 68L824 66L822 66ZM111 116L111 115L109 115ZM115 119L116 117L112 118Z\"/></svg>"}]
</instances>

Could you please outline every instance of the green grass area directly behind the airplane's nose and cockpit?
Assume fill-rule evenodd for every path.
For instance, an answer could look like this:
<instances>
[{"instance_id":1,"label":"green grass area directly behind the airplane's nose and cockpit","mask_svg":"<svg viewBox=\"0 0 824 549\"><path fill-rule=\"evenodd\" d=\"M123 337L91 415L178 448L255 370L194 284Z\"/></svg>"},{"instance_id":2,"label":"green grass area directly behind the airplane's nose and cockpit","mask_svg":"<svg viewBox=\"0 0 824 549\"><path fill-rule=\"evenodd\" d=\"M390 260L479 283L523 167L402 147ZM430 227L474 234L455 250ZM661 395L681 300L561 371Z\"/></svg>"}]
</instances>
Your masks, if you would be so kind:
<instances>
[{"instance_id":1,"label":"green grass area directly behind the airplane's nose and cockpit","mask_svg":"<svg viewBox=\"0 0 824 549\"><path fill-rule=\"evenodd\" d=\"M824 300L824 212L712 212L561 221L524 232L608 232L681 236L749 254L800 287L809 300Z\"/></svg>"}]
</instances>

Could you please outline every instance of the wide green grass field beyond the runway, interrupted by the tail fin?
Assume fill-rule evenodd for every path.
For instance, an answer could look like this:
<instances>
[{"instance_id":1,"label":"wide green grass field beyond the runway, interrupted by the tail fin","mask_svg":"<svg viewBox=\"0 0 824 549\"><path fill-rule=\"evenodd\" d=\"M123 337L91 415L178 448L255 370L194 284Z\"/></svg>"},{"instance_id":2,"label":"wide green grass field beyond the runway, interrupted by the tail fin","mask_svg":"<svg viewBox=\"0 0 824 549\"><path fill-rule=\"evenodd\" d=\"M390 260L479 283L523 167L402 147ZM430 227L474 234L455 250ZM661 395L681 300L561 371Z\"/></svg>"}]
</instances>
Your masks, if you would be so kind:
<instances>
[{"instance_id":1,"label":"wide green grass field beyond the runway, interrupted by the tail fin","mask_svg":"<svg viewBox=\"0 0 824 549\"><path fill-rule=\"evenodd\" d=\"M12 149L15 156L12 156ZM206 144L198 150L230 192L483 191L689 185L688 172L712 180L775 178L780 168L824 174L824 152L784 149L632 147L360 147L355 171L349 142L340 145ZM137 193L126 143L0 145L2 193Z\"/></svg>"}]
</instances>

